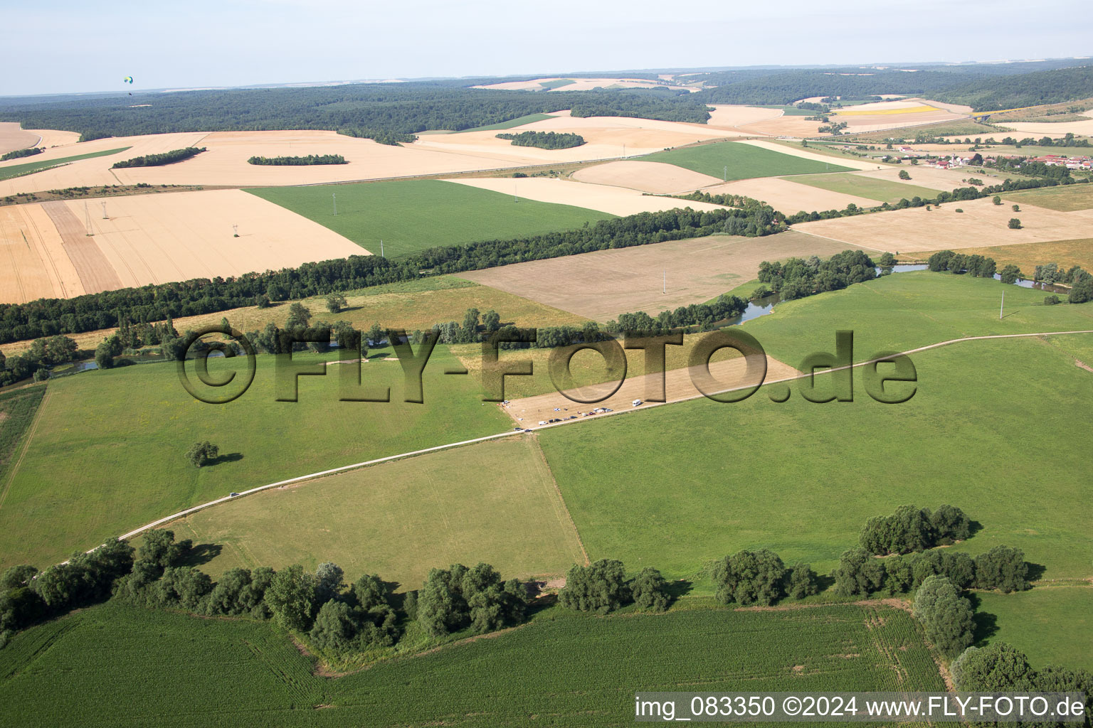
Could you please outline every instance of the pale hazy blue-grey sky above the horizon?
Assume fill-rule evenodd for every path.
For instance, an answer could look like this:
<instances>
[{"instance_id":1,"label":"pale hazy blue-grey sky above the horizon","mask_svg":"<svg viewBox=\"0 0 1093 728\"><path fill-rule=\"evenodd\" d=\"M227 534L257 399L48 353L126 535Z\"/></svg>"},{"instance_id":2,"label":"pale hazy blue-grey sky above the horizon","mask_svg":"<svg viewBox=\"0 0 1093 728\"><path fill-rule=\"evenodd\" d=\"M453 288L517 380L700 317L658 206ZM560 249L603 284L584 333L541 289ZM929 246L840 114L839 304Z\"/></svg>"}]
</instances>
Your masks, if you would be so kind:
<instances>
[{"instance_id":1,"label":"pale hazy blue-grey sky above the horizon","mask_svg":"<svg viewBox=\"0 0 1093 728\"><path fill-rule=\"evenodd\" d=\"M893 10L886 11L885 7ZM1088 0L0 0L0 95L1093 55Z\"/></svg>"}]
</instances>

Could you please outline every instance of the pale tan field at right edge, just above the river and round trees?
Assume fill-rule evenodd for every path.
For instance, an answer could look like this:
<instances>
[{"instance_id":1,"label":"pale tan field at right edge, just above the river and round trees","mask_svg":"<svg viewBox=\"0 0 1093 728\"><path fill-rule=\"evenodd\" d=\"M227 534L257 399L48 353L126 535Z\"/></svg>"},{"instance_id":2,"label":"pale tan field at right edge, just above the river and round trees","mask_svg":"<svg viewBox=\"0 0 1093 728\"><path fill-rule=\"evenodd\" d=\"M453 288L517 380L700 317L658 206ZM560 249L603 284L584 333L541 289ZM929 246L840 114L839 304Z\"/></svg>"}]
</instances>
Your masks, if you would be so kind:
<instances>
[{"instance_id":1,"label":"pale tan field at right edge, just above the river and round trees","mask_svg":"<svg viewBox=\"0 0 1093 728\"><path fill-rule=\"evenodd\" d=\"M963 210L957 213L956 210ZM1011 217L1022 229L1011 230ZM1056 212L1021 205L996 205L989 198L971 202L949 202L941 207L914 207L856 217L816 220L795 225L801 232L841 240L849 246L898 252L975 248L984 243L1007 246L1021 242L1073 240L1093 229L1093 210Z\"/></svg>"}]
</instances>

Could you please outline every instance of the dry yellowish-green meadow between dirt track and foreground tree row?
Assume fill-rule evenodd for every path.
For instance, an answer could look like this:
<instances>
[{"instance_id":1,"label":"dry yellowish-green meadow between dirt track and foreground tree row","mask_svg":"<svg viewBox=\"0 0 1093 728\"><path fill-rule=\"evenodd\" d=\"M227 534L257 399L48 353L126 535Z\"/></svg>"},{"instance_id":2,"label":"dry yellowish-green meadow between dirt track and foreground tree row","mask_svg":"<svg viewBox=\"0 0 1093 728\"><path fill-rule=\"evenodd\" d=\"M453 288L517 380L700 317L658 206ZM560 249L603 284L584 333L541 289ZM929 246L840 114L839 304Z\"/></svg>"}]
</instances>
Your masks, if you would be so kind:
<instances>
[{"instance_id":1,"label":"dry yellowish-green meadow between dirt track and foreground tree row","mask_svg":"<svg viewBox=\"0 0 1093 728\"><path fill-rule=\"evenodd\" d=\"M315 571L333 561L346 573L378 573L400 589L414 589L430 569L450 563L484 561L506 577L527 578L564 574L585 561L550 469L528 435L272 488L171 527L178 538L222 546L201 566L213 575L293 563Z\"/></svg>"}]
</instances>

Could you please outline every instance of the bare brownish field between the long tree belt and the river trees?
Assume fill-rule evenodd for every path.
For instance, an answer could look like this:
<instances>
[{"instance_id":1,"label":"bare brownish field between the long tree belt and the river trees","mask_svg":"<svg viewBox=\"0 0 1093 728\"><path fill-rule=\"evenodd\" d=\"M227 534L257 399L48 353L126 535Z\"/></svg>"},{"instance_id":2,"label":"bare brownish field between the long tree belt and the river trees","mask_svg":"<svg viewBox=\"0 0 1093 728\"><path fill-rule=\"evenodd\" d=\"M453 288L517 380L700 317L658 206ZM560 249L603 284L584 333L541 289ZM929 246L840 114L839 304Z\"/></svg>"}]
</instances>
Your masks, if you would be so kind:
<instances>
[{"instance_id":1,"label":"bare brownish field between the long tree belt and the river trees","mask_svg":"<svg viewBox=\"0 0 1093 728\"><path fill-rule=\"evenodd\" d=\"M718 235L515 263L459 277L604 322L620 313L656 315L708 301L754 278L762 261L825 256L846 248L794 231L766 238Z\"/></svg>"}]
</instances>

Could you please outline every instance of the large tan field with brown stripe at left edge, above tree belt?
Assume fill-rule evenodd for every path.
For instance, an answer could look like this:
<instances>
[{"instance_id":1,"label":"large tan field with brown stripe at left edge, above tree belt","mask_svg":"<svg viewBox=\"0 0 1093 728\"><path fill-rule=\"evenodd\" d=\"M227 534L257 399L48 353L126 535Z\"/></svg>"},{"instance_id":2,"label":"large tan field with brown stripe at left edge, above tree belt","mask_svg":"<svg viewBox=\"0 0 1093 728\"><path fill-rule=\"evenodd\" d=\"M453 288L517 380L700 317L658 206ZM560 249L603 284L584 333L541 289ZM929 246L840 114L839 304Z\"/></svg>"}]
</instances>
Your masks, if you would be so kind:
<instances>
[{"instance_id":1,"label":"large tan field with brown stripe at left edge, above tree belt","mask_svg":"<svg viewBox=\"0 0 1093 728\"><path fill-rule=\"evenodd\" d=\"M86 207L59 201L0 207L0 235L12 261L0 274L0 302L233 276L367 253L240 190L111 198L106 212L108 219L103 219L97 202ZM89 216L94 236L86 235ZM233 225L238 225L238 238Z\"/></svg>"}]
</instances>

